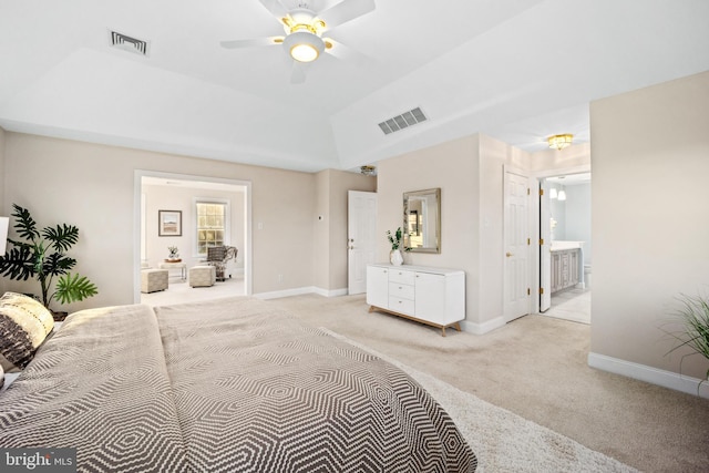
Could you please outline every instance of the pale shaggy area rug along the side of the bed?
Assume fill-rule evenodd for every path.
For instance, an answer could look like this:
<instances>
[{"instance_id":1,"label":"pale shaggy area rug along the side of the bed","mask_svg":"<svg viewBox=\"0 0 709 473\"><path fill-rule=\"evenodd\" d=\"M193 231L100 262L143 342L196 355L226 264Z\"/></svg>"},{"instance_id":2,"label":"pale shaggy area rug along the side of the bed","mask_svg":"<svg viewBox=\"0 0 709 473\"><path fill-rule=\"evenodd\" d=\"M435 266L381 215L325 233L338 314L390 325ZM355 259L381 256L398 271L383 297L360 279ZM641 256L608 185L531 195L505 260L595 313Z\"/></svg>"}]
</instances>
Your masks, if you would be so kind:
<instances>
[{"instance_id":1,"label":"pale shaggy area rug along the side of the bed","mask_svg":"<svg viewBox=\"0 0 709 473\"><path fill-rule=\"evenodd\" d=\"M635 472L549 429L484 402L432 376L320 327L333 337L367 350L415 379L451 415L477 455L477 472Z\"/></svg>"}]
</instances>

